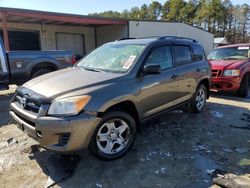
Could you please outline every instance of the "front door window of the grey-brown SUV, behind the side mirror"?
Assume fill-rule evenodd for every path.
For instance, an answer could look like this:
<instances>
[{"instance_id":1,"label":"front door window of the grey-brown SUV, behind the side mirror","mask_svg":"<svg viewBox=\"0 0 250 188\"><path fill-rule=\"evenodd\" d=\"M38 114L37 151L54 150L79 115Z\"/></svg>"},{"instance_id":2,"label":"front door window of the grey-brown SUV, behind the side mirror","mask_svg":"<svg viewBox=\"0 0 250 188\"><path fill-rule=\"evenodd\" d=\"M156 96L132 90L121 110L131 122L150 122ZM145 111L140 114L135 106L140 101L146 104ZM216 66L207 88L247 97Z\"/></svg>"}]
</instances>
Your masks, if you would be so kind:
<instances>
[{"instance_id":1,"label":"front door window of the grey-brown SUV, behind the side mirror","mask_svg":"<svg viewBox=\"0 0 250 188\"><path fill-rule=\"evenodd\" d=\"M146 64L158 64L162 70L171 68L173 61L170 47L162 46L154 49L148 57Z\"/></svg>"}]
</instances>

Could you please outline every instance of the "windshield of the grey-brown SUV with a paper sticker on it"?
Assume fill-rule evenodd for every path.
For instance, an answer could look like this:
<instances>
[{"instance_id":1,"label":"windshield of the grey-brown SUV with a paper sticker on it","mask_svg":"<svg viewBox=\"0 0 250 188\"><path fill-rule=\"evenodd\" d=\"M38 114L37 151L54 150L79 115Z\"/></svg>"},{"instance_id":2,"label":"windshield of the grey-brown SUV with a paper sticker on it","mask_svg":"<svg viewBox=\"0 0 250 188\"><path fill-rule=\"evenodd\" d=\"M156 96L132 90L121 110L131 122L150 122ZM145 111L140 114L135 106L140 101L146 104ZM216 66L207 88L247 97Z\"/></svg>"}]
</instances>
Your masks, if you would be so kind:
<instances>
[{"instance_id":1,"label":"windshield of the grey-brown SUV with a paper sticker on it","mask_svg":"<svg viewBox=\"0 0 250 188\"><path fill-rule=\"evenodd\" d=\"M106 44L80 60L77 66L90 71L124 73L136 62L145 48L139 44Z\"/></svg>"}]
</instances>

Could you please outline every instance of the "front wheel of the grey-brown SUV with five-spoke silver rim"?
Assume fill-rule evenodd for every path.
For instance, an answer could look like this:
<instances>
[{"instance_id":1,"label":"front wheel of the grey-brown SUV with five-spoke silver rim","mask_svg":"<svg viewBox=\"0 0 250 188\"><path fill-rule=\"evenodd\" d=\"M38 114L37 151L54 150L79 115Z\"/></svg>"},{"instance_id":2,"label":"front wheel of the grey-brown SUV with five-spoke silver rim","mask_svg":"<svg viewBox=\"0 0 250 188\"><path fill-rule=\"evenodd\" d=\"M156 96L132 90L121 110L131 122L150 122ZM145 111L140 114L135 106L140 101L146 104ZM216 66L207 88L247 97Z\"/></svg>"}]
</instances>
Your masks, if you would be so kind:
<instances>
[{"instance_id":1,"label":"front wheel of the grey-brown SUV with five-spoke silver rim","mask_svg":"<svg viewBox=\"0 0 250 188\"><path fill-rule=\"evenodd\" d=\"M122 111L111 111L98 124L89 150L100 160L116 160L131 149L135 138L136 123L132 116Z\"/></svg>"}]
</instances>

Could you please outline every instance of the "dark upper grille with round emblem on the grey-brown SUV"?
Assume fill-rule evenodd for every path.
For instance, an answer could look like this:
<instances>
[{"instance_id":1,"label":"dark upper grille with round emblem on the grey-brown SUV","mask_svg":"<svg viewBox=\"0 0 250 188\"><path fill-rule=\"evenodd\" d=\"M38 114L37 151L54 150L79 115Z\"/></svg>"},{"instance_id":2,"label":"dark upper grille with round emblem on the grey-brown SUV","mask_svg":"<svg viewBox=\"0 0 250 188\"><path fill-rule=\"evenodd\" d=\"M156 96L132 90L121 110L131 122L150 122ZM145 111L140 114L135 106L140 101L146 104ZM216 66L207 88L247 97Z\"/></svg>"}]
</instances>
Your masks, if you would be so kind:
<instances>
[{"instance_id":1,"label":"dark upper grille with round emblem on the grey-brown SUV","mask_svg":"<svg viewBox=\"0 0 250 188\"><path fill-rule=\"evenodd\" d=\"M16 95L15 101L20 108L32 112L34 114L38 114L39 109L41 107L40 104L29 101L29 98L21 97L20 95Z\"/></svg>"}]
</instances>

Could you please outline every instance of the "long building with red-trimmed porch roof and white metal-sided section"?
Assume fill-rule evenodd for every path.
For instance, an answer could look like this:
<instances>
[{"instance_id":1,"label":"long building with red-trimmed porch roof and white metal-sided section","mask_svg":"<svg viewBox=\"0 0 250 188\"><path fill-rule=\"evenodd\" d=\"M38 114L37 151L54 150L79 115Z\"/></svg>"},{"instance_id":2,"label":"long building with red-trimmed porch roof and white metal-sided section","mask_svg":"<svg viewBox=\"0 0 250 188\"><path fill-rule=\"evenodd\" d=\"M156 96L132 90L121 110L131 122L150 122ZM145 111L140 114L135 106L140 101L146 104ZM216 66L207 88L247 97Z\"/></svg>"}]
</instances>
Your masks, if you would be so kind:
<instances>
[{"instance_id":1,"label":"long building with red-trimmed porch roof and white metal-sided section","mask_svg":"<svg viewBox=\"0 0 250 188\"><path fill-rule=\"evenodd\" d=\"M0 8L0 34L9 50L73 50L83 56L119 38L182 36L213 49L213 34L184 24L129 21L82 15Z\"/></svg>"}]
</instances>

